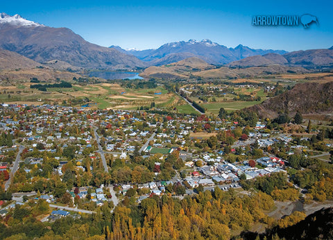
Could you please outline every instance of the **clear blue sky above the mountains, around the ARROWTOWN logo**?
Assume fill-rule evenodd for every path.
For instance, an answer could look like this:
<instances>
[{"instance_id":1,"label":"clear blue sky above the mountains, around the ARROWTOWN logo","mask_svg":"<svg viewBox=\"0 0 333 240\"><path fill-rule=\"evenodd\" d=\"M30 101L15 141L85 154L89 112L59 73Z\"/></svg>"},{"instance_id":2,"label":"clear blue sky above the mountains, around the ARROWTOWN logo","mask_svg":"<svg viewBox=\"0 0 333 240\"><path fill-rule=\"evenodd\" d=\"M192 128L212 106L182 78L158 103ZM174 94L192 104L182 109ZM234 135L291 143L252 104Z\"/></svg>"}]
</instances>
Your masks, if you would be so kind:
<instances>
[{"instance_id":1,"label":"clear blue sky above the mountains, around the ARROWTOWN logo","mask_svg":"<svg viewBox=\"0 0 333 240\"><path fill-rule=\"evenodd\" d=\"M333 46L333 1L2 1L0 12L70 28L101 46L139 50L172 41L210 39L232 47L307 50ZM253 26L257 15L317 17L319 24Z\"/></svg>"}]
</instances>

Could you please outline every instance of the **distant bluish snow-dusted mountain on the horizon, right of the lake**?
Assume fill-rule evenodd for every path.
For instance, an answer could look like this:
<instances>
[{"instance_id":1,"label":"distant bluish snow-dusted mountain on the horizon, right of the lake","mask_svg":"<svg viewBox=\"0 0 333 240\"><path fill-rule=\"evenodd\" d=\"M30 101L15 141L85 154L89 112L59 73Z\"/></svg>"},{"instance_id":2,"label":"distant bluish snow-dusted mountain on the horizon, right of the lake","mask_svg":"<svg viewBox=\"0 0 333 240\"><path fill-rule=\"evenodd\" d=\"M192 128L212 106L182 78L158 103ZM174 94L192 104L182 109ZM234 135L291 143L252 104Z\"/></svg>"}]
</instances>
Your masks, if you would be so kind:
<instances>
[{"instance_id":1,"label":"distant bluish snow-dusted mountain on the horizon, right of the lake","mask_svg":"<svg viewBox=\"0 0 333 240\"><path fill-rule=\"evenodd\" d=\"M120 47L111 46L110 48L119 50ZM253 49L243 45L236 48L227 48L210 39L203 39L202 41L190 39L189 41L175 41L164 44L157 49L130 50L127 53L149 62L150 65L164 65L178 62L187 57L199 57L210 64L227 64L253 55L284 54L287 52L284 50Z\"/></svg>"}]
</instances>

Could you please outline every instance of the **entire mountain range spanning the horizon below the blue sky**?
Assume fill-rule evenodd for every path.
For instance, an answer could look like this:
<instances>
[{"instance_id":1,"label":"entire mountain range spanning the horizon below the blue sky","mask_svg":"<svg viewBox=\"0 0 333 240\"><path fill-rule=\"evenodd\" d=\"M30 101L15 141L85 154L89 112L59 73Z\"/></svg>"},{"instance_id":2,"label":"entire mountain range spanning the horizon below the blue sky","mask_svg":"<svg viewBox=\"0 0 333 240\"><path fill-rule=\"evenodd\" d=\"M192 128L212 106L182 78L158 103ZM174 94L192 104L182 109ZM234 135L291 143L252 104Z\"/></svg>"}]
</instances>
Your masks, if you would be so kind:
<instances>
[{"instance_id":1,"label":"entire mountain range spanning the horizon below the blue sky","mask_svg":"<svg viewBox=\"0 0 333 240\"><path fill-rule=\"evenodd\" d=\"M328 49L287 53L284 50L253 49L243 45L227 48L205 39L172 42L157 49L124 50L119 46L106 48L89 43L69 28L51 28L19 15L9 16L6 13L0 13L0 48L32 59L36 63L30 62L31 66L48 64L51 68L74 71L83 68L118 70L164 66L189 57L196 57L217 68L224 65L222 70L211 69L211 66L209 70L200 69L214 72L214 76L221 72L222 75L216 77L285 72L292 71L289 68L295 66L309 69L333 67L333 46ZM9 65L15 66L18 63L12 61L14 62ZM8 61L6 64L8 66ZM238 71L239 73L232 71L234 68L254 70L248 69L251 73L247 74L244 70Z\"/></svg>"}]
</instances>

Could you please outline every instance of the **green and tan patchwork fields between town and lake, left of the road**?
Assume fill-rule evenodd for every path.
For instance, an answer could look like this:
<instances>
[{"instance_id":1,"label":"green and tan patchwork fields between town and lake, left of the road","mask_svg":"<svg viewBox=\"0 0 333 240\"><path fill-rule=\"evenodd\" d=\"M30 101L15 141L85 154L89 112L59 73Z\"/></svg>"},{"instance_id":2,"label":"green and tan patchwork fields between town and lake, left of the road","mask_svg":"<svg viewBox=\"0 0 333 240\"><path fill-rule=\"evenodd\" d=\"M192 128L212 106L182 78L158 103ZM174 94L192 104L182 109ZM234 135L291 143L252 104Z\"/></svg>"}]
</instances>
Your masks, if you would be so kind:
<instances>
[{"instance_id":1,"label":"green and tan patchwork fields between town and lake, left of the road","mask_svg":"<svg viewBox=\"0 0 333 240\"><path fill-rule=\"evenodd\" d=\"M155 102L156 107L172 107L179 100L173 93L168 93L163 86L155 89L128 89L119 84L73 85L72 88L48 88L46 92L30 88L31 83L17 86L0 86L0 101L19 104L61 104L75 102L88 98L87 102L80 102L78 106L99 109L128 109L150 107ZM78 102L78 101L76 101Z\"/></svg>"}]
</instances>

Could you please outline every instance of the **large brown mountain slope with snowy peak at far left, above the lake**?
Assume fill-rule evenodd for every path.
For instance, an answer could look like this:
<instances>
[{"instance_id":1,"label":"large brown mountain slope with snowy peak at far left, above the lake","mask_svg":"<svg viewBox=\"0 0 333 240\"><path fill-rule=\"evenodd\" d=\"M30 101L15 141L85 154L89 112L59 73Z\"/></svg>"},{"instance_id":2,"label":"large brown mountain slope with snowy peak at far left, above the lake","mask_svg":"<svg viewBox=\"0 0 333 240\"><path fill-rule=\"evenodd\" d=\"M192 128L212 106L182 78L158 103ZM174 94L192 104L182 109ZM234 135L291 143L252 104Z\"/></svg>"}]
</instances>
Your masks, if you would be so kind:
<instances>
[{"instance_id":1,"label":"large brown mountain slope with snowy peak at far left, above the lake","mask_svg":"<svg viewBox=\"0 0 333 240\"><path fill-rule=\"evenodd\" d=\"M135 68L145 64L133 55L85 41L68 28L50 28L19 15L0 16L0 48L36 62L54 59L83 68Z\"/></svg>"}]
</instances>

